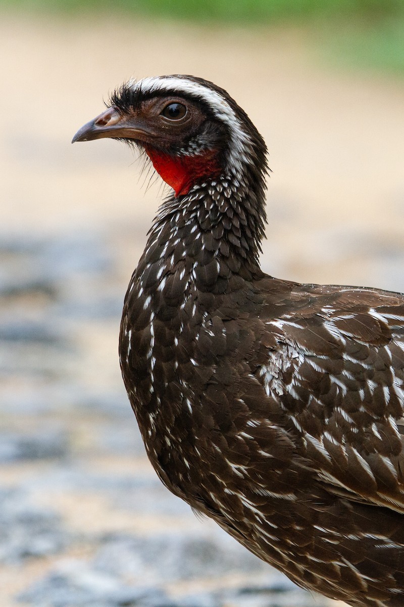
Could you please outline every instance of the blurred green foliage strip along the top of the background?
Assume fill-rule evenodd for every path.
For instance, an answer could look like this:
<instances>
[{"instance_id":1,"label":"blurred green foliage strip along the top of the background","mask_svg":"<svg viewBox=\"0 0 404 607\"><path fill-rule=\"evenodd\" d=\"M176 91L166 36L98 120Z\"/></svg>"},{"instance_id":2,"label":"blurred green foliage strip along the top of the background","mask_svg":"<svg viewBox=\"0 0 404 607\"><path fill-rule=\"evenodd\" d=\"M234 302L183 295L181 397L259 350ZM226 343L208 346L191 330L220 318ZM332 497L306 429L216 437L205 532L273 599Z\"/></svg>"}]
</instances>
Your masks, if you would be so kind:
<instances>
[{"instance_id":1,"label":"blurred green foliage strip along the top of the background","mask_svg":"<svg viewBox=\"0 0 404 607\"><path fill-rule=\"evenodd\" d=\"M228 27L303 25L328 58L404 75L404 0L0 0L0 7L94 18L121 12Z\"/></svg>"}]
</instances>

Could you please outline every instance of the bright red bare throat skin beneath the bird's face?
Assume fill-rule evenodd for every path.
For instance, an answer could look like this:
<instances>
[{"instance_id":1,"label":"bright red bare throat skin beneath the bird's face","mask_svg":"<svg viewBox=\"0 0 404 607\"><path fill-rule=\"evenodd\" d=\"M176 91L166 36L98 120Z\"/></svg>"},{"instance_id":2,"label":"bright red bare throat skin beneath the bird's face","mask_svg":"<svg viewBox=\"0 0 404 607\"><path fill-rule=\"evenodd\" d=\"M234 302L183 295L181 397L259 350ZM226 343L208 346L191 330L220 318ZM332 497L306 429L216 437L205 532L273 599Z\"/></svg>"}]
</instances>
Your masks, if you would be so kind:
<instances>
[{"instance_id":1,"label":"bright red bare throat skin beneath the bird's face","mask_svg":"<svg viewBox=\"0 0 404 607\"><path fill-rule=\"evenodd\" d=\"M180 157L170 156L151 146L145 146L145 151L157 173L174 189L176 196L188 194L197 180L207 175L216 177L220 172L216 150Z\"/></svg>"}]
</instances>

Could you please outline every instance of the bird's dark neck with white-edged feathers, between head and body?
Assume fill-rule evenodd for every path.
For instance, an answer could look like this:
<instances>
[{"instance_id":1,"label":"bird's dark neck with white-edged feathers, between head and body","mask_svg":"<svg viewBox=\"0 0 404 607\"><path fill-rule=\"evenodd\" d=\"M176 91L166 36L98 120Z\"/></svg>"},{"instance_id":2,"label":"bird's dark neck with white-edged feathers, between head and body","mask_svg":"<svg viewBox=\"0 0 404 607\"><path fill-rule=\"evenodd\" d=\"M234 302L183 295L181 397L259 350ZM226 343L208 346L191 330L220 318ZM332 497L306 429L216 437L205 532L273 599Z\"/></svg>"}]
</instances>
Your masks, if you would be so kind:
<instances>
[{"instance_id":1,"label":"bird's dark neck with white-edged feathers, between head and body","mask_svg":"<svg viewBox=\"0 0 404 607\"><path fill-rule=\"evenodd\" d=\"M158 250L164 273L180 269L181 263L187 268L193 264L196 280L213 291L225 289L234 274L246 280L261 276L264 192L263 177L248 180L222 172L194 184L185 195L168 198L151 228L145 262L157 263ZM179 263L185 258L186 263Z\"/></svg>"}]
</instances>

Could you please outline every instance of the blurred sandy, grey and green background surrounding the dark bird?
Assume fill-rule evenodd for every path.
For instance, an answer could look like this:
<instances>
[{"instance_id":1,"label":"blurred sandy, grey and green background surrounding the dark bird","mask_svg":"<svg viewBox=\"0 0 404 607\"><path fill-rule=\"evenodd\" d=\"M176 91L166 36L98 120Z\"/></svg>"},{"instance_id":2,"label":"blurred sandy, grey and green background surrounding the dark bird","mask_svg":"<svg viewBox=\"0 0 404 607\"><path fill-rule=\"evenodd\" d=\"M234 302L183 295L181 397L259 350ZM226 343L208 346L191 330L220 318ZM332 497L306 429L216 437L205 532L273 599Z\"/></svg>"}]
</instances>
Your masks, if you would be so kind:
<instances>
[{"instance_id":1,"label":"blurred sandy, grey and green background surrounding the dark bird","mask_svg":"<svg viewBox=\"0 0 404 607\"><path fill-rule=\"evenodd\" d=\"M404 291L402 0L0 0L0 604L331 607L145 458L122 300L164 188L70 145L136 76L224 87L270 149L268 273Z\"/></svg>"}]
</instances>

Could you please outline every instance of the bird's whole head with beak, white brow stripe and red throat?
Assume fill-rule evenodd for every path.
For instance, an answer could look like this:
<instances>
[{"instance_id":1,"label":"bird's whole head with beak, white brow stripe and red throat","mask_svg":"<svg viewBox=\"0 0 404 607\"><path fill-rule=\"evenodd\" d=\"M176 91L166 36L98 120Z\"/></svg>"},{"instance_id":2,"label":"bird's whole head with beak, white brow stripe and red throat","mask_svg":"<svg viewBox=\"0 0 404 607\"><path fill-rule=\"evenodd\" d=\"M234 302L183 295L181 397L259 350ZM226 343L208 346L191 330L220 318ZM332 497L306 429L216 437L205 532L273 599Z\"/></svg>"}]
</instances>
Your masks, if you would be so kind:
<instances>
[{"instance_id":1,"label":"bird's whole head with beak, white brow stripe and red throat","mask_svg":"<svg viewBox=\"0 0 404 607\"><path fill-rule=\"evenodd\" d=\"M224 174L245 186L262 180L266 147L247 114L228 93L194 76L129 81L111 95L107 110L73 137L109 137L137 144L176 196ZM250 175L251 177L251 175Z\"/></svg>"}]
</instances>

